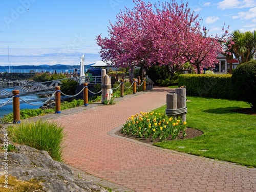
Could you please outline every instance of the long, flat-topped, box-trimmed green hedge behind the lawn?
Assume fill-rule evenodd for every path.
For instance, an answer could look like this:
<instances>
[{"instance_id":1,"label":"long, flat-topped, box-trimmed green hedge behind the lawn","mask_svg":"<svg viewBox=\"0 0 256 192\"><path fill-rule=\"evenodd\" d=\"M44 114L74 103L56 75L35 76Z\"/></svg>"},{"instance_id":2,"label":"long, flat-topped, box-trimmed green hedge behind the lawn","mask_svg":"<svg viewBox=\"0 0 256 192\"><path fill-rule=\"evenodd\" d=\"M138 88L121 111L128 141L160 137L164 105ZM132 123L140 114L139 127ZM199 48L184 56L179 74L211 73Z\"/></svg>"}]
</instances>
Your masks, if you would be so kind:
<instances>
[{"instance_id":1,"label":"long, flat-topped, box-trimmed green hedge behind the lawn","mask_svg":"<svg viewBox=\"0 0 256 192\"><path fill-rule=\"evenodd\" d=\"M188 95L232 99L231 75L182 74L179 87L186 86Z\"/></svg>"}]
</instances>

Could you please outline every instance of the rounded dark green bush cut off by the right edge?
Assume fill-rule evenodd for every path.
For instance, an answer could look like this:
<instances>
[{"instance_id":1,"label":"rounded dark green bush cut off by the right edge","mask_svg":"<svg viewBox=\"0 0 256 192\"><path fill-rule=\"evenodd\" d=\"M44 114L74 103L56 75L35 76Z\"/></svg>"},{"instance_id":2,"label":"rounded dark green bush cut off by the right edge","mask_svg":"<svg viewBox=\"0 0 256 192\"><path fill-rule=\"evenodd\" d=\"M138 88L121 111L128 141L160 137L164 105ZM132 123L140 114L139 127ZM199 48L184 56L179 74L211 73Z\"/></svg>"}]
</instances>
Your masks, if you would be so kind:
<instances>
[{"instance_id":1,"label":"rounded dark green bush cut off by the right edge","mask_svg":"<svg viewBox=\"0 0 256 192\"><path fill-rule=\"evenodd\" d=\"M256 60L243 63L231 77L234 98L250 103L256 109Z\"/></svg>"}]
</instances>

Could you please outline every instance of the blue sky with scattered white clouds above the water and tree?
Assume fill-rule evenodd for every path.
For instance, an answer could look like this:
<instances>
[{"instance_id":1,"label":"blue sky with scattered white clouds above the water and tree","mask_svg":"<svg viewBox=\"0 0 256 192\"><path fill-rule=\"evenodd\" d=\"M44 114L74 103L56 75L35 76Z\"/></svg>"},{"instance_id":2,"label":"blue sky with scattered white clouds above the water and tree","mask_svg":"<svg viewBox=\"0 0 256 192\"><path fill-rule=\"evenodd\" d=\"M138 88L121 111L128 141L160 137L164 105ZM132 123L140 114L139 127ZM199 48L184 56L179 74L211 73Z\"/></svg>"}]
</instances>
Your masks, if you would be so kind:
<instances>
[{"instance_id":1,"label":"blue sky with scattered white clouds above the water and tree","mask_svg":"<svg viewBox=\"0 0 256 192\"><path fill-rule=\"evenodd\" d=\"M203 18L208 34L221 35L224 23L230 26L229 31L256 29L256 0L188 2ZM109 20L114 23L124 7L132 9L133 1L1 0L0 66L79 65L82 54L85 64L101 60L96 36L108 36Z\"/></svg>"}]
</instances>

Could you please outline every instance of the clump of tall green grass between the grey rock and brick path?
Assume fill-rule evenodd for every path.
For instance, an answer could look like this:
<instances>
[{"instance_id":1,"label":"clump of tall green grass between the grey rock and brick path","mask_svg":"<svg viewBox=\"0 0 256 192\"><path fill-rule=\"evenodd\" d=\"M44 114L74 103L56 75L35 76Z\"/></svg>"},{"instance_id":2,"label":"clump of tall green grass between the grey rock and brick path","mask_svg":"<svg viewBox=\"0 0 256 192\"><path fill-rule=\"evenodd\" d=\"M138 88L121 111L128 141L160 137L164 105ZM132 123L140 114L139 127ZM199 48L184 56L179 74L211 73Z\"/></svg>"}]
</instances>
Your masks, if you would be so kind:
<instances>
[{"instance_id":1,"label":"clump of tall green grass between the grey rock and brick path","mask_svg":"<svg viewBox=\"0 0 256 192\"><path fill-rule=\"evenodd\" d=\"M9 126L8 133L14 143L47 151L54 160L62 161L61 144L65 135L57 123L42 120L20 123Z\"/></svg>"}]
</instances>

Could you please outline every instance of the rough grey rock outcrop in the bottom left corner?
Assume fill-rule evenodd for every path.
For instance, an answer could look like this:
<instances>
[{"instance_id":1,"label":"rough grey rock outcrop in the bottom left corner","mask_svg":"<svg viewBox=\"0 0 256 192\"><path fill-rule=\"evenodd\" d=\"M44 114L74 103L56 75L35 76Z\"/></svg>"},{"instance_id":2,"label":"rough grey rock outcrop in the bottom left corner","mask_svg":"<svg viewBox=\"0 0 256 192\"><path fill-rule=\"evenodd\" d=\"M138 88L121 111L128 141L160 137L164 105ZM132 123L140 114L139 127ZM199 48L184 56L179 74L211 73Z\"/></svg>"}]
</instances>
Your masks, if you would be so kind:
<instances>
[{"instance_id":1,"label":"rough grey rock outcrop in the bottom left corner","mask_svg":"<svg viewBox=\"0 0 256 192\"><path fill-rule=\"evenodd\" d=\"M6 130L2 128L0 131L1 149L4 148L4 144L7 144L4 134ZM13 146L10 141L8 144ZM8 153L1 150L0 161L2 162L0 176L8 175L9 178L14 176L19 181L36 181L36 184L42 187L33 191L108 191L90 181L78 178L67 165L53 160L46 151L38 151L27 145L16 145L13 152ZM2 191L1 188L4 189L3 187L0 182L0 191Z\"/></svg>"}]
</instances>

